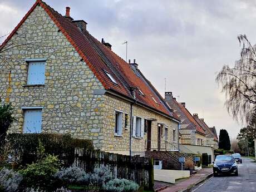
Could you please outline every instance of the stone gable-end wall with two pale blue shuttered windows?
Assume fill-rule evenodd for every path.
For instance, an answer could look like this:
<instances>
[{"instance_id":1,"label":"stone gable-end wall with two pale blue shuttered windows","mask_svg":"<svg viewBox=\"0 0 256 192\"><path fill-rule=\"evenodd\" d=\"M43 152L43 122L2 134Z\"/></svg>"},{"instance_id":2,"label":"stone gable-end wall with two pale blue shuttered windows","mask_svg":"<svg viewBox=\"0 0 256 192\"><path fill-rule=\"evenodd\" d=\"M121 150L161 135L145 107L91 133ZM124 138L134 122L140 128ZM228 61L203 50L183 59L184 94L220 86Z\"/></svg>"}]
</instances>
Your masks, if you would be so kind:
<instances>
[{"instance_id":1,"label":"stone gable-end wall with two pale blue shuttered windows","mask_svg":"<svg viewBox=\"0 0 256 192\"><path fill-rule=\"evenodd\" d=\"M22 34L26 34L26 39ZM4 52L8 63L0 61L0 87L6 90L3 99L12 103L18 120L11 132L22 132L22 107L43 107L42 132L69 133L92 139L96 147L101 147L104 97L93 95L93 90L104 87L41 7L37 6L28 16L7 46L13 41L27 40L31 41L29 45ZM38 58L47 59L45 85L26 86L25 60ZM95 134L93 130L99 131Z\"/></svg>"}]
</instances>

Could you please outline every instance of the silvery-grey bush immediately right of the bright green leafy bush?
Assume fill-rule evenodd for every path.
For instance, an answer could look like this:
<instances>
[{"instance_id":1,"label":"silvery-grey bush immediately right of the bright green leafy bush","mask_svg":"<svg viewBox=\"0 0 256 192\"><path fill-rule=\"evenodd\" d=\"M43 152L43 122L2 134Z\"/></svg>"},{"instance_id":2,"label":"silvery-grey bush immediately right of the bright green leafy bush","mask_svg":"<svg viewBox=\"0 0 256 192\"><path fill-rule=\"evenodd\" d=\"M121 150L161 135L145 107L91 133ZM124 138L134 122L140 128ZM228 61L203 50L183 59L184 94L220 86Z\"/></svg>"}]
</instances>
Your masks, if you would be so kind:
<instances>
[{"instance_id":1,"label":"silvery-grey bush immediately right of the bright green leafy bush","mask_svg":"<svg viewBox=\"0 0 256 192\"><path fill-rule=\"evenodd\" d=\"M70 166L69 168L62 168L55 174L55 178L60 179L65 184L87 184L89 174L77 166Z\"/></svg>"}]
</instances>

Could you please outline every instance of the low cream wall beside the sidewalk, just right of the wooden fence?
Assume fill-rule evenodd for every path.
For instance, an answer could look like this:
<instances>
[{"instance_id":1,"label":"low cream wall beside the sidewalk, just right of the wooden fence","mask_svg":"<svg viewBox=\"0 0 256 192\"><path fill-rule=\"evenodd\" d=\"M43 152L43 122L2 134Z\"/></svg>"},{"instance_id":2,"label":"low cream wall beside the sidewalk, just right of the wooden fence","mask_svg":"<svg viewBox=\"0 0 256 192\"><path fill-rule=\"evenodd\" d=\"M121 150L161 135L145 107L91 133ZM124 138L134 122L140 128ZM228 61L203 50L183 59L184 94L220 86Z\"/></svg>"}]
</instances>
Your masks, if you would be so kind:
<instances>
[{"instance_id":1,"label":"low cream wall beside the sidewalk, just right of the wooden fence","mask_svg":"<svg viewBox=\"0 0 256 192\"><path fill-rule=\"evenodd\" d=\"M154 179L166 183L175 183L176 179L189 178L190 171L154 169Z\"/></svg>"}]
</instances>

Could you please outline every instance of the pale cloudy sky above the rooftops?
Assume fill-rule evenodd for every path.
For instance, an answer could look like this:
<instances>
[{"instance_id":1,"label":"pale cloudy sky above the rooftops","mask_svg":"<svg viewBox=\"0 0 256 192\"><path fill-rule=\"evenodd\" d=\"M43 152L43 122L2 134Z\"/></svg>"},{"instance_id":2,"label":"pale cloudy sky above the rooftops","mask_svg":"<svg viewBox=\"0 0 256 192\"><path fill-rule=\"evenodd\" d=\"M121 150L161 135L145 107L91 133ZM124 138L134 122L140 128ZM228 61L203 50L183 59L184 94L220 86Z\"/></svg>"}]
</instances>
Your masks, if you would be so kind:
<instances>
[{"instance_id":1,"label":"pale cloudy sky above the rooftops","mask_svg":"<svg viewBox=\"0 0 256 192\"><path fill-rule=\"evenodd\" d=\"M223 65L239 58L239 34L256 43L256 1L250 0L45 0L56 11L86 21L87 30L104 38L140 70L164 96L186 102L208 126L237 136L243 126L224 106L225 95L215 82ZM0 0L0 37L11 32L35 0ZM3 38L2 38L3 40Z\"/></svg>"}]
</instances>

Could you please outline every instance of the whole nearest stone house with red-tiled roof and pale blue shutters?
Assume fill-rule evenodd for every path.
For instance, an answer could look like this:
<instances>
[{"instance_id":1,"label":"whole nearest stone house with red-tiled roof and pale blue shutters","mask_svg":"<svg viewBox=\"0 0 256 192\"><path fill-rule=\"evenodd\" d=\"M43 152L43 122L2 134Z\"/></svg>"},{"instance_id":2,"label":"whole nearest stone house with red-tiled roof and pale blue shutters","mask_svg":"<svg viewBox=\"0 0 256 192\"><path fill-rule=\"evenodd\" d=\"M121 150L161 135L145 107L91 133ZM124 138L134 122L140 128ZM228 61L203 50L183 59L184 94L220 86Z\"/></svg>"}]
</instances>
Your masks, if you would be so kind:
<instances>
[{"instance_id":1,"label":"whole nearest stone house with red-tiled roof and pale blue shutters","mask_svg":"<svg viewBox=\"0 0 256 192\"><path fill-rule=\"evenodd\" d=\"M37 0L0 49L2 102L18 119L11 132L68 133L126 155L178 142L178 116L137 63L97 41L70 8L62 16Z\"/></svg>"}]
</instances>

